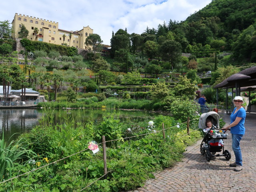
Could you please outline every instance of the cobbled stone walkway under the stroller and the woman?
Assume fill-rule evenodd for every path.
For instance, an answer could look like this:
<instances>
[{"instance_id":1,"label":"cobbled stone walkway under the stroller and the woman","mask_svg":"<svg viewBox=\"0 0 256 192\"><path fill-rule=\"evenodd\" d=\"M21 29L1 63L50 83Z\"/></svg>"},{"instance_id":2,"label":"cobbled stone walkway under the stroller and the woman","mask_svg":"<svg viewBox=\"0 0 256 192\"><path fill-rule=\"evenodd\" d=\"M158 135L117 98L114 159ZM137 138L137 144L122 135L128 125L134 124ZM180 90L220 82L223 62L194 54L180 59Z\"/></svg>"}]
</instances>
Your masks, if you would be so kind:
<instances>
[{"instance_id":1,"label":"cobbled stone walkway under the stroller and the woman","mask_svg":"<svg viewBox=\"0 0 256 192\"><path fill-rule=\"evenodd\" d=\"M230 123L230 117L225 117ZM256 192L256 114L246 114L246 134L242 138L241 150L243 170L235 172L229 167L235 161L231 134L224 140L225 150L231 152L231 160L216 157L208 162L200 154L200 143L187 148L184 159L173 168L155 174L143 188L134 192Z\"/></svg>"}]
</instances>

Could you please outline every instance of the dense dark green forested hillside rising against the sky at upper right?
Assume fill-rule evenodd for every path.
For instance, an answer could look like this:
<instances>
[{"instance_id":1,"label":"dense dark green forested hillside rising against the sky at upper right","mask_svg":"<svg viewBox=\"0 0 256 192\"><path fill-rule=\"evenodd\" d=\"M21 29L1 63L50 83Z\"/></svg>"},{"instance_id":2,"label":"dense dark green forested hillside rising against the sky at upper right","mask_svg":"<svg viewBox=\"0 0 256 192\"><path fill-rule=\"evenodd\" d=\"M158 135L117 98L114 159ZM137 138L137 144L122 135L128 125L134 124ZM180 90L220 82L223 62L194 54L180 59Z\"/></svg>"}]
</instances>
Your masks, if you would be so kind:
<instances>
[{"instance_id":1,"label":"dense dark green forested hillside rising against the sky at upper right","mask_svg":"<svg viewBox=\"0 0 256 192\"><path fill-rule=\"evenodd\" d=\"M232 64L256 62L255 21L256 0L213 0L185 21L170 19L168 23L159 24L157 29L147 27L143 34L130 34L131 49L133 53L138 52L144 43L144 52L149 58L160 56L163 60L166 60L165 53L173 54L166 50L166 46L181 48L182 52L192 54L215 50L232 51ZM124 35L125 32L120 30L113 34L112 55L125 47L121 45L125 42L121 38ZM174 40L178 44L166 44L166 40ZM172 60L176 62L174 58Z\"/></svg>"}]
</instances>

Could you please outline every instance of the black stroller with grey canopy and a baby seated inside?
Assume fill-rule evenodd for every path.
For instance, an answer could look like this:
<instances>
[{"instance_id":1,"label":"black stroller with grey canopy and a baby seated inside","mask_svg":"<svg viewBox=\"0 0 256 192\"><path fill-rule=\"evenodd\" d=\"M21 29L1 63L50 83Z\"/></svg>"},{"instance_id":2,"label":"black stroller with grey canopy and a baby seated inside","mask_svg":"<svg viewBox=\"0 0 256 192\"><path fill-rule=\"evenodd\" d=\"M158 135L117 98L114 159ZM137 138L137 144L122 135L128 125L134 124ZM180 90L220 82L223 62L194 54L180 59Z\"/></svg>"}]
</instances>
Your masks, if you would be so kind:
<instances>
[{"instance_id":1,"label":"black stroller with grey canopy and a baby seated inside","mask_svg":"<svg viewBox=\"0 0 256 192\"><path fill-rule=\"evenodd\" d=\"M204 138L200 145L200 152L202 155L205 155L207 161L210 161L212 157L220 157L224 156L226 160L231 159L231 154L228 150L224 150L223 140L227 139L226 137L222 137L220 135L214 136L213 132L219 132L215 130L214 126L210 129L206 129L206 120L211 120L212 124L218 129L220 116L218 113L214 111L210 111L208 113L203 113L200 116L200 120L198 123L198 128L202 129L204 132ZM223 132L224 133L224 132ZM222 154L216 154L216 152L221 152Z\"/></svg>"}]
</instances>

